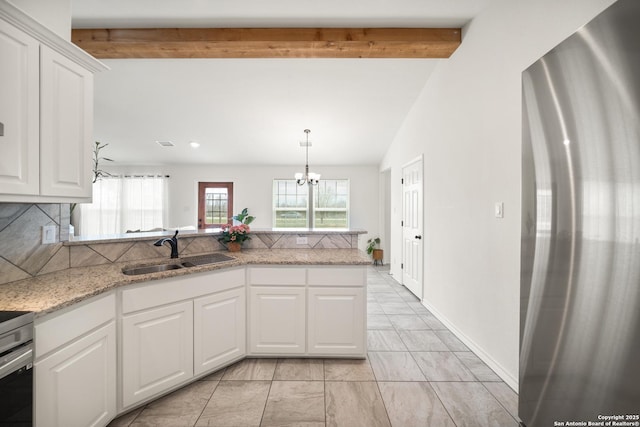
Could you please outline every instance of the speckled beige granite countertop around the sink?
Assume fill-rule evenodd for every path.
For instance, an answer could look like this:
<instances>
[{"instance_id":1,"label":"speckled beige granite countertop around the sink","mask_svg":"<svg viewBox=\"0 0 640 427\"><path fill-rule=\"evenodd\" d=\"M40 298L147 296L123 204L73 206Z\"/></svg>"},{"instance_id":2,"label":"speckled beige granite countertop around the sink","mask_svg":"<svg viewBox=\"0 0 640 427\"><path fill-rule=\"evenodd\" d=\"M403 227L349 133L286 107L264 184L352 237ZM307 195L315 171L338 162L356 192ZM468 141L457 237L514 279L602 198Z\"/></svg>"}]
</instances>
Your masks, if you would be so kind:
<instances>
[{"instance_id":1,"label":"speckled beige granite countertop around the sink","mask_svg":"<svg viewBox=\"0 0 640 427\"><path fill-rule=\"evenodd\" d=\"M132 266L180 262L179 259L156 258L140 262L69 268L3 284L0 285L0 311L33 311L38 317L120 286L236 266L366 265L371 263L369 257L358 249L245 249L241 252L224 253L236 259L137 276L127 276L122 273L123 268ZM193 256L194 254L190 254L185 258Z\"/></svg>"}]
</instances>

